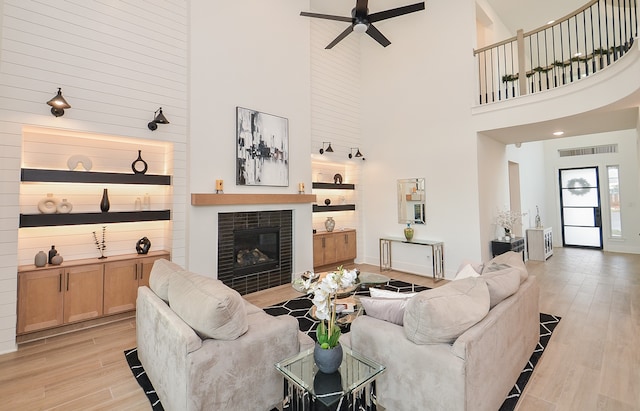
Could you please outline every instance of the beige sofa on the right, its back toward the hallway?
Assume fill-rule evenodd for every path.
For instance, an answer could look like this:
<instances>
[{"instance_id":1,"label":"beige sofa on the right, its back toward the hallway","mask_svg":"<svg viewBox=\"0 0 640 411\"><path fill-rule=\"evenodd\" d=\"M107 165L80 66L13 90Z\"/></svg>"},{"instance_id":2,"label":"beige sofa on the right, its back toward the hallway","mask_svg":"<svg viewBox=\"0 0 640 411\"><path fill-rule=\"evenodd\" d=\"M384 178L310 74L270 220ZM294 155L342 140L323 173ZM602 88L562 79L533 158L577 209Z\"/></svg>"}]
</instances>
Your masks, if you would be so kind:
<instances>
[{"instance_id":1,"label":"beige sofa on the right, its back toward the hallway","mask_svg":"<svg viewBox=\"0 0 640 411\"><path fill-rule=\"evenodd\" d=\"M367 313L343 335L387 367L376 381L385 409L500 408L539 340L539 288L521 254L475 268L482 275L408 299L402 325Z\"/></svg>"}]
</instances>

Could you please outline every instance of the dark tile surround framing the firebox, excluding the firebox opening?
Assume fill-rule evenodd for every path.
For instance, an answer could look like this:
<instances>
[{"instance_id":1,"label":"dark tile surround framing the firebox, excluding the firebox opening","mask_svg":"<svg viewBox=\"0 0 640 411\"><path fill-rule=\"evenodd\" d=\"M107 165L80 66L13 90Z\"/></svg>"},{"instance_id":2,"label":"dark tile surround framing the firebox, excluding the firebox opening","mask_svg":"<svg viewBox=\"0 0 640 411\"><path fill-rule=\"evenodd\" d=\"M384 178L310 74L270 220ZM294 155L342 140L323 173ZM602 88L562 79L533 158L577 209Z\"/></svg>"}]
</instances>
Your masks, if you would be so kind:
<instances>
[{"instance_id":1,"label":"dark tile surround framing the firebox, excluding the firebox opening","mask_svg":"<svg viewBox=\"0 0 640 411\"><path fill-rule=\"evenodd\" d=\"M280 227L279 267L234 275L234 230ZM291 282L293 211L246 211L218 214L218 279L241 295Z\"/></svg>"}]
</instances>

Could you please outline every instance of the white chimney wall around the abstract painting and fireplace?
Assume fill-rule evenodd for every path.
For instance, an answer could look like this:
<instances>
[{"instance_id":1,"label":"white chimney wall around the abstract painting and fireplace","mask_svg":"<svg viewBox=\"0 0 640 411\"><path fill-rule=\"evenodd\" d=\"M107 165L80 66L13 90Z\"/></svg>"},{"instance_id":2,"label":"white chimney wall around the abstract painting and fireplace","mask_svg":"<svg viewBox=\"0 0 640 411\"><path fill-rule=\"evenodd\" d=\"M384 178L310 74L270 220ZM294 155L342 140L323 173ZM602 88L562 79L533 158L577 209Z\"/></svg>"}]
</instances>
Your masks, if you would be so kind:
<instances>
[{"instance_id":1,"label":"white chimney wall around the abstract painting and fireplace","mask_svg":"<svg viewBox=\"0 0 640 411\"><path fill-rule=\"evenodd\" d=\"M191 2L190 191L298 192L311 188L308 1ZM289 119L289 186L237 186L236 106ZM188 268L217 275L217 214L294 210L294 273L313 266L311 205L190 207Z\"/></svg>"}]
</instances>

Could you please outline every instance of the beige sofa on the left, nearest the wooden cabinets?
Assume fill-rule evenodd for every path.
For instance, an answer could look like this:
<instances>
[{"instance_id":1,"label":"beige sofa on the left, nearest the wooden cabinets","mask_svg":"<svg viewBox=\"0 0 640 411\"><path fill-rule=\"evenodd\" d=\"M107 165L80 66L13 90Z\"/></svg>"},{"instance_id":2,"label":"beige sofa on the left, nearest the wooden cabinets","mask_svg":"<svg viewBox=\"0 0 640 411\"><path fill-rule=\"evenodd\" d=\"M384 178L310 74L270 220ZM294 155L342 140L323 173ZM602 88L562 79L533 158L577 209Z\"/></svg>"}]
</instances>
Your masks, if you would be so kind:
<instances>
[{"instance_id":1,"label":"beige sofa on the left, nearest the wooden cabinets","mask_svg":"<svg viewBox=\"0 0 640 411\"><path fill-rule=\"evenodd\" d=\"M313 347L222 282L158 260L138 290L138 357L165 410L269 410L283 399L274 364Z\"/></svg>"}]
</instances>

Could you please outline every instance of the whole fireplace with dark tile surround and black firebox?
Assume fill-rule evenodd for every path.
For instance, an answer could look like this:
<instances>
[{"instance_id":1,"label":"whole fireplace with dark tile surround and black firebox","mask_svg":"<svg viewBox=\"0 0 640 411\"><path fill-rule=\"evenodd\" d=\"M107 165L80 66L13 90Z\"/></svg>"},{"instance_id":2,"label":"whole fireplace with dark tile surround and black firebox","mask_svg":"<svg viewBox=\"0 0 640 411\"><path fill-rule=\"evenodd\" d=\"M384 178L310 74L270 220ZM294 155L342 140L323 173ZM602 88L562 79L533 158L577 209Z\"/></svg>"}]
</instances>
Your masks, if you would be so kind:
<instances>
[{"instance_id":1,"label":"whole fireplace with dark tile surround and black firebox","mask_svg":"<svg viewBox=\"0 0 640 411\"><path fill-rule=\"evenodd\" d=\"M291 282L293 211L218 214L218 279L248 294Z\"/></svg>"}]
</instances>

